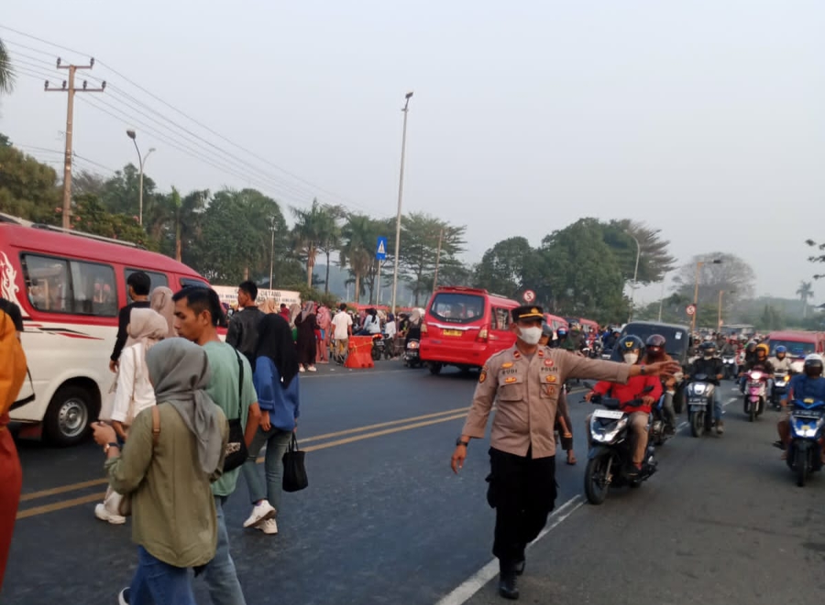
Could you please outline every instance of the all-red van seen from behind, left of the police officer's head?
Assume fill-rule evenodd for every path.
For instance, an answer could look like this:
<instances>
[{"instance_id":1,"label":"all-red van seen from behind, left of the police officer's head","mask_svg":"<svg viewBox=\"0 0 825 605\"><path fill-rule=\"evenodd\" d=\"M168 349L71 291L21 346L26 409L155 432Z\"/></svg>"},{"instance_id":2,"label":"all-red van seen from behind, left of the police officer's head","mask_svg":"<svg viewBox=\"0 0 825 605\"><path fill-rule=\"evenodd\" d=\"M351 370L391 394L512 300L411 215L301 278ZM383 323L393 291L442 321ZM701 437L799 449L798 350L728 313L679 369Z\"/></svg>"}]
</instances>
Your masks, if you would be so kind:
<instances>
[{"instance_id":1,"label":"all-red van seen from behind, left of the police officer's head","mask_svg":"<svg viewBox=\"0 0 825 605\"><path fill-rule=\"evenodd\" d=\"M444 366L481 367L493 353L512 347L512 310L520 303L478 288L445 286L427 305L421 358L432 374Z\"/></svg>"}]
</instances>

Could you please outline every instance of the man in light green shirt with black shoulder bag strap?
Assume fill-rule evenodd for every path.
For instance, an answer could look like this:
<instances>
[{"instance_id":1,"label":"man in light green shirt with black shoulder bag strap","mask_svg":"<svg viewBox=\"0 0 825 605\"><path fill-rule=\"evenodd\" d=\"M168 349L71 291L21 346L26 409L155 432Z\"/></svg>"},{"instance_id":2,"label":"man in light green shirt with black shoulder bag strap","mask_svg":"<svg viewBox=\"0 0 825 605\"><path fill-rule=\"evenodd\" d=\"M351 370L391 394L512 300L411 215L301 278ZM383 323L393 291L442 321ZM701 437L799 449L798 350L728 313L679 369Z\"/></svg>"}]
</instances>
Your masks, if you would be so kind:
<instances>
[{"instance_id":1,"label":"man in light green shirt with black shoulder bag strap","mask_svg":"<svg viewBox=\"0 0 825 605\"><path fill-rule=\"evenodd\" d=\"M228 420L240 418L246 427L245 441L252 443L261 418L255 386L252 384L252 368L247 358L238 355L233 347L221 342L218 336L219 320L223 317L220 299L214 290L201 286L190 286L172 296L175 301L175 329L181 337L204 347L209 358L210 377L206 392L224 411ZM243 385L240 390L241 366ZM238 400L240 393L240 400ZM228 473L212 484L214 508L218 522L218 548L214 559L206 565L204 577L209 586L214 605L246 605L243 598L238 572L232 555L229 554L229 535L224 520L224 503L235 491L240 468Z\"/></svg>"}]
</instances>

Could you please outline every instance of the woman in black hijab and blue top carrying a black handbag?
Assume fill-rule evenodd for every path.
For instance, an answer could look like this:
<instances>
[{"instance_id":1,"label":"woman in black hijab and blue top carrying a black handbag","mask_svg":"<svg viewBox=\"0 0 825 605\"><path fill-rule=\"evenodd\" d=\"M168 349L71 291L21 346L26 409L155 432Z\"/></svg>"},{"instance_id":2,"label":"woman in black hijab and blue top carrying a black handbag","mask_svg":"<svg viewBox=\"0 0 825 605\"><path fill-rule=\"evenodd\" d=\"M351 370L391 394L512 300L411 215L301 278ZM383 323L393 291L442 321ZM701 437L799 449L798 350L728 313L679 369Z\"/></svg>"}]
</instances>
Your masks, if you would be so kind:
<instances>
[{"instance_id":1,"label":"woman in black hijab and blue top carrying a black handbag","mask_svg":"<svg viewBox=\"0 0 825 605\"><path fill-rule=\"evenodd\" d=\"M278 314L266 315L259 327L255 371L252 380L261 406L261 425L252 438L243 476L249 487L252 514L243 527L266 534L278 533L276 514L281 510L282 459L297 426L300 410L298 354L290 324ZM266 489L257 471L257 456L266 444Z\"/></svg>"}]
</instances>

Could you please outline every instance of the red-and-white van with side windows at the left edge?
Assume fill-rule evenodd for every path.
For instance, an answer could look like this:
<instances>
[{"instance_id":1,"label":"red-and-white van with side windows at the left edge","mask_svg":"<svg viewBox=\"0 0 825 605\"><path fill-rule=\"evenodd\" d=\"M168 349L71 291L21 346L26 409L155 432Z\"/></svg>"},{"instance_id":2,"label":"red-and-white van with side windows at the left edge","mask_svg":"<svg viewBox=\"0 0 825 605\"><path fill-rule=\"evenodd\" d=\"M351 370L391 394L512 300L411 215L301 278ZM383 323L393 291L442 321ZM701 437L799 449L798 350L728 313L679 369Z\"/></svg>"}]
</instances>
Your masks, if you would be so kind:
<instances>
[{"instance_id":1,"label":"red-and-white van with side windows at the left edge","mask_svg":"<svg viewBox=\"0 0 825 605\"><path fill-rule=\"evenodd\" d=\"M114 374L109 356L117 315L129 300L126 278L148 274L152 287L208 286L186 265L115 239L0 218L0 295L20 306L31 384L12 410L23 437L73 445L97 419Z\"/></svg>"}]
</instances>

